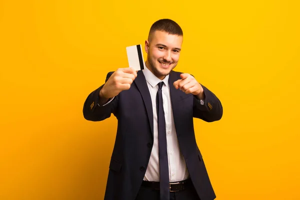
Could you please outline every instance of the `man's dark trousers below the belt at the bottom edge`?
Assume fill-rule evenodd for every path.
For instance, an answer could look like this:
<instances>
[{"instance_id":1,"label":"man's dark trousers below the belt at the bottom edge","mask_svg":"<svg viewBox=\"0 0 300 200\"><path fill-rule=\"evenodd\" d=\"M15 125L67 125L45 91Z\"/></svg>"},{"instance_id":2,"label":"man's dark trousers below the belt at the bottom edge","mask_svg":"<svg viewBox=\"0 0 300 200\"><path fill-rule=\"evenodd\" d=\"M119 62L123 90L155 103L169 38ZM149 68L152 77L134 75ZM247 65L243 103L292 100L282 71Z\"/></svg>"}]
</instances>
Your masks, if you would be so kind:
<instances>
[{"instance_id":1,"label":"man's dark trousers below the belt at the bottom edge","mask_svg":"<svg viewBox=\"0 0 300 200\"><path fill-rule=\"evenodd\" d=\"M141 186L135 200L159 200L159 190ZM170 200L200 200L200 198L191 185L184 190L170 192Z\"/></svg>"}]
</instances>

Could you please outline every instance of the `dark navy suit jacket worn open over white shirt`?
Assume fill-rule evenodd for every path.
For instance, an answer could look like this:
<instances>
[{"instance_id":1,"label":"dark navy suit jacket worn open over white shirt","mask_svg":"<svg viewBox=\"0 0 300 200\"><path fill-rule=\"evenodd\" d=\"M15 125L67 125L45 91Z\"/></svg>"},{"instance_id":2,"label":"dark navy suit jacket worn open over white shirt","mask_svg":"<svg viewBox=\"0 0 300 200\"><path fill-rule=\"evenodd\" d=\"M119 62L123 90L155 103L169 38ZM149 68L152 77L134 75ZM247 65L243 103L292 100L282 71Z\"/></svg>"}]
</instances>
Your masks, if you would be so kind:
<instances>
[{"instance_id":1,"label":"dark navy suit jacket worn open over white shirt","mask_svg":"<svg viewBox=\"0 0 300 200\"><path fill-rule=\"evenodd\" d=\"M111 74L112 72L107 74L105 82ZM196 144L193 117L207 122L219 120L222 117L222 105L203 85L204 105L201 105L194 95L175 89L173 82L181 79L179 75L180 72L171 71L168 79L179 147L200 199L212 200L215 193ZM143 180L153 145L150 93L140 70L128 90L121 91L108 104L99 106L98 94L102 86L92 91L86 98L83 116L87 120L101 121L113 113L118 121L104 199L133 200Z\"/></svg>"}]
</instances>

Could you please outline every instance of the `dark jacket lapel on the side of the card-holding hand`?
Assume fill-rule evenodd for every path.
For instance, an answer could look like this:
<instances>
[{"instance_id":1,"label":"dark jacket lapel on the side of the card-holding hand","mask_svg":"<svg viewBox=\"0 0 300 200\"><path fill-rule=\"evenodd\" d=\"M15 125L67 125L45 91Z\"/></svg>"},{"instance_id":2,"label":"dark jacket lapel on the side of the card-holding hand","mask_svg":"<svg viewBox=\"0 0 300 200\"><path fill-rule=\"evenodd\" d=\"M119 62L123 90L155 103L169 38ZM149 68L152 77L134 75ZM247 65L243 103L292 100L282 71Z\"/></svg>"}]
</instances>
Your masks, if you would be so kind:
<instances>
[{"instance_id":1,"label":"dark jacket lapel on the side of the card-holding hand","mask_svg":"<svg viewBox=\"0 0 300 200\"><path fill-rule=\"evenodd\" d=\"M134 79L137 89L139 90L141 97L143 99L144 105L146 107L151 133L153 137L153 110L150 92L147 86L145 76L141 70L137 71L137 76Z\"/></svg>"}]
</instances>

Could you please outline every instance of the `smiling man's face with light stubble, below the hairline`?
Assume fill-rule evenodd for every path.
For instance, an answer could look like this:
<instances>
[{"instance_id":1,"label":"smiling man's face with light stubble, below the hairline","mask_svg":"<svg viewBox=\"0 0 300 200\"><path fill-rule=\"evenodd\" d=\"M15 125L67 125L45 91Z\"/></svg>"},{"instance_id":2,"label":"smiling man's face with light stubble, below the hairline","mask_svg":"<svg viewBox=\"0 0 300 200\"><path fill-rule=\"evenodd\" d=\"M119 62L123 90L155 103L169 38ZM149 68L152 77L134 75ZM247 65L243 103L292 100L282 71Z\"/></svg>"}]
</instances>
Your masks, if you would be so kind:
<instances>
[{"instance_id":1,"label":"smiling man's face with light stubble, below the hairline","mask_svg":"<svg viewBox=\"0 0 300 200\"><path fill-rule=\"evenodd\" d=\"M182 36L156 30L145 41L146 66L159 79L163 79L177 65Z\"/></svg>"}]
</instances>

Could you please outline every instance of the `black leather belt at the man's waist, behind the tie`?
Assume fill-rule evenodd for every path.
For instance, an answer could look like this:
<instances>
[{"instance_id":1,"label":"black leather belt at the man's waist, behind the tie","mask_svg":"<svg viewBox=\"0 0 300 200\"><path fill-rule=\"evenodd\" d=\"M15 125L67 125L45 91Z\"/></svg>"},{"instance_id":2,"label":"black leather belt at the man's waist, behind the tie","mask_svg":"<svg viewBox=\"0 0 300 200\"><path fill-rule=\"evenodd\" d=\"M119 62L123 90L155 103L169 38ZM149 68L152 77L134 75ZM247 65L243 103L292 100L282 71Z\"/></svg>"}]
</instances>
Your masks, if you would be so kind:
<instances>
[{"instance_id":1,"label":"black leather belt at the man's waist, behind the tie","mask_svg":"<svg viewBox=\"0 0 300 200\"><path fill-rule=\"evenodd\" d=\"M180 190L183 190L183 189L191 186L191 184L192 183L191 183L190 179L177 181L177 182L170 182L169 183L169 190L170 191L180 191ZM151 188L151 189L159 189L159 182L143 180L142 183L141 183L141 186L148 187L148 188Z\"/></svg>"}]
</instances>

